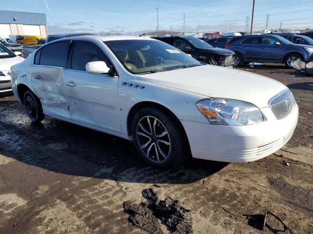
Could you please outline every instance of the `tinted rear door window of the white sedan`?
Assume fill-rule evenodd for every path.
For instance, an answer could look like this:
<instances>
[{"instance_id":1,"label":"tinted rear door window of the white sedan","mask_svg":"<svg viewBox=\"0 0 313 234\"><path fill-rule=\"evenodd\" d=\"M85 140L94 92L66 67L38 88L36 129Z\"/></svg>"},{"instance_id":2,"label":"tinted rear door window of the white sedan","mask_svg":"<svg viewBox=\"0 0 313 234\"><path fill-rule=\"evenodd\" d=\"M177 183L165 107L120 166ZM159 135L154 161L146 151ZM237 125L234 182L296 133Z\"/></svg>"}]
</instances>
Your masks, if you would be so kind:
<instances>
[{"instance_id":1,"label":"tinted rear door window of the white sedan","mask_svg":"<svg viewBox=\"0 0 313 234\"><path fill-rule=\"evenodd\" d=\"M68 46L69 41L62 41L42 47L40 65L67 67Z\"/></svg>"}]
</instances>

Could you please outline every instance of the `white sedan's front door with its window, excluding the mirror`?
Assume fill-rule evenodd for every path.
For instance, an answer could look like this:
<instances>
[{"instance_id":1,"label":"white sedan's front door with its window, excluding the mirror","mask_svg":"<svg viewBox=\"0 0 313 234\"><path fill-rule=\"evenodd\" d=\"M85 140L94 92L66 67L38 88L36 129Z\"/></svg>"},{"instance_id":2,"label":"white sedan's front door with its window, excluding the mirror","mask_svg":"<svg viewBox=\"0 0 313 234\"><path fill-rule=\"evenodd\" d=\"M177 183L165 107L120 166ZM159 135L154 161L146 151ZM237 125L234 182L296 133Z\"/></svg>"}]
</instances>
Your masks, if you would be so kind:
<instances>
[{"instance_id":1,"label":"white sedan's front door with its window, excluding the mirror","mask_svg":"<svg viewBox=\"0 0 313 234\"><path fill-rule=\"evenodd\" d=\"M86 72L88 62L105 61L110 67L110 60L99 47L88 41L75 41L70 58L68 69L64 71L70 119L120 133L116 121L118 78Z\"/></svg>"}]
</instances>

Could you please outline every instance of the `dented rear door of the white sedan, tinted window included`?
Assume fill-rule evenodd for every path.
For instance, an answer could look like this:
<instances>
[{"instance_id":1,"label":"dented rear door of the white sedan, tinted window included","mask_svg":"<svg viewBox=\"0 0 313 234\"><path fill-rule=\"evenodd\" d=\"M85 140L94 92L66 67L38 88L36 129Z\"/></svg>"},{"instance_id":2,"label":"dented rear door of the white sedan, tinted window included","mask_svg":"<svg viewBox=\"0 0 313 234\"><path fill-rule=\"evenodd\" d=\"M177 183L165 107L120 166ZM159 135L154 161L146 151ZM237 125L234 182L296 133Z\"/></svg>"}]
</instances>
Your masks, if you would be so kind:
<instances>
[{"instance_id":1,"label":"dented rear door of the white sedan, tinted window included","mask_svg":"<svg viewBox=\"0 0 313 234\"><path fill-rule=\"evenodd\" d=\"M43 46L35 55L30 67L30 78L46 114L69 118L64 94L64 71L70 41Z\"/></svg>"}]
</instances>

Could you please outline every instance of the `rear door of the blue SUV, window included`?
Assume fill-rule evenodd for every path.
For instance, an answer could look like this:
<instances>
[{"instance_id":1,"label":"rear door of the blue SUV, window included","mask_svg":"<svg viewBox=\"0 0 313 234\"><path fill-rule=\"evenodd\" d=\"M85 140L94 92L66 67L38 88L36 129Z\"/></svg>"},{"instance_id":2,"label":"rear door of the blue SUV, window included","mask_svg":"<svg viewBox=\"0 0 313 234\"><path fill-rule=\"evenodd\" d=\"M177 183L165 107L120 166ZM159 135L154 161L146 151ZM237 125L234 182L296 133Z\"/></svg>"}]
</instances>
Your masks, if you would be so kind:
<instances>
[{"instance_id":1,"label":"rear door of the blue SUV, window included","mask_svg":"<svg viewBox=\"0 0 313 234\"><path fill-rule=\"evenodd\" d=\"M250 37L241 42L244 49L244 61L245 62L258 62L260 55L260 42L259 37Z\"/></svg>"}]
</instances>

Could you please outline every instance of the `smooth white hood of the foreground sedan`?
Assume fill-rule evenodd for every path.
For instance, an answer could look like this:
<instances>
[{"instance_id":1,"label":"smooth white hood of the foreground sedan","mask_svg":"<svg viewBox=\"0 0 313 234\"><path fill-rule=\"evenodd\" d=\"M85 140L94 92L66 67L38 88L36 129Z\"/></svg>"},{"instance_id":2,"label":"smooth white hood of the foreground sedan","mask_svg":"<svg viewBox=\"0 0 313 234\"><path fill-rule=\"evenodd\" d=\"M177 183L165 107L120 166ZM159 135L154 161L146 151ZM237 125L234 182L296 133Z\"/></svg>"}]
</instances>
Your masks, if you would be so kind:
<instances>
[{"instance_id":1,"label":"smooth white hood of the foreground sedan","mask_svg":"<svg viewBox=\"0 0 313 234\"><path fill-rule=\"evenodd\" d=\"M270 98L288 89L271 78L214 65L136 75L136 79L211 98L242 100L259 108L267 107Z\"/></svg>"}]
</instances>

